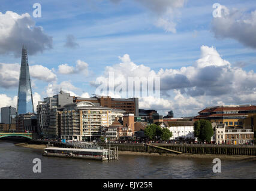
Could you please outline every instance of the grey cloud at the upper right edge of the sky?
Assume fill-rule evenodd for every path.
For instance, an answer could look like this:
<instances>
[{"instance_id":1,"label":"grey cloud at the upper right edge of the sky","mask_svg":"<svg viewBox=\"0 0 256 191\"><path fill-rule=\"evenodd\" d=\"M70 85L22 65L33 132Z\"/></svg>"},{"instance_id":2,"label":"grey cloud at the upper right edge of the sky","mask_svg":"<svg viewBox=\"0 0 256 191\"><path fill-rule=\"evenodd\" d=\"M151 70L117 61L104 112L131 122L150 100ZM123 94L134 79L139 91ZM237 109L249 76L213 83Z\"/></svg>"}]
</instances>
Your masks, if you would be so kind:
<instances>
[{"instance_id":1,"label":"grey cloud at the upper right edge of the sky","mask_svg":"<svg viewBox=\"0 0 256 191\"><path fill-rule=\"evenodd\" d=\"M246 13L228 10L224 5L221 5L221 10L221 17L212 20L215 37L236 39L246 47L256 48L256 10Z\"/></svg>"}]
</instances>

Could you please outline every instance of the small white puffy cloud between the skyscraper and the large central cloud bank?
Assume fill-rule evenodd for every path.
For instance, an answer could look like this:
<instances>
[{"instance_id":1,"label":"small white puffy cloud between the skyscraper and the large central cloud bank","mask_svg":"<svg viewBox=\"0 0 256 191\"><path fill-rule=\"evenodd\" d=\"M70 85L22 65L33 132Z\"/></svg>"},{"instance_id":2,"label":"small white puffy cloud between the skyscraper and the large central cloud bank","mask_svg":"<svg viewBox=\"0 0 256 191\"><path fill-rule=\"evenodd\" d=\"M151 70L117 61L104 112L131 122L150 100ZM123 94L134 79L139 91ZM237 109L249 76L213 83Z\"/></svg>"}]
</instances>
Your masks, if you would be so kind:
<instances>
[{"instance_id":1,"label":"small white puffy cloud between the skyscraper and the large central cloud bank","mask_svg":"<svg viewBox=\"0 0 256 191\"><path fill-rule=\"evenodd\" d=\"M73 74L82 73L83 75L88 75L88 63L82 60L76 61L76 67L69 66L68 64L61 64L58 66L58 72L61 74Z\"/></svg>"}]
</instances>

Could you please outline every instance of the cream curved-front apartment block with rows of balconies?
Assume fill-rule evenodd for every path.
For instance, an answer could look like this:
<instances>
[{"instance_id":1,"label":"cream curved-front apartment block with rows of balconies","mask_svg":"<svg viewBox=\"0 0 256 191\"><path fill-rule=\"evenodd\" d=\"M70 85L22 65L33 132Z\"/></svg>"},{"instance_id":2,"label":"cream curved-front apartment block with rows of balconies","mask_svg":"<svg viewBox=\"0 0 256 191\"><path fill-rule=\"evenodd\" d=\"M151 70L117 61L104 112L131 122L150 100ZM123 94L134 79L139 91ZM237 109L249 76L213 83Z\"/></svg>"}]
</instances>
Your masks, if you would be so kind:
<instances>
[{"instance_id":1,"label":"cream curved-front apartment block with rows of balconies","mask_svg":"<svg viewBox=\"0 0 256 191\"><path fill-rule=\"evenodd\" d=\"M59 113L61 138L77 141L99 138L101 128L112 125L112 112L115 112L115 115L119 112L118 115L121 116L125 110L116 111L90 101L65 105Z\"/></svg>"}]
</instances>

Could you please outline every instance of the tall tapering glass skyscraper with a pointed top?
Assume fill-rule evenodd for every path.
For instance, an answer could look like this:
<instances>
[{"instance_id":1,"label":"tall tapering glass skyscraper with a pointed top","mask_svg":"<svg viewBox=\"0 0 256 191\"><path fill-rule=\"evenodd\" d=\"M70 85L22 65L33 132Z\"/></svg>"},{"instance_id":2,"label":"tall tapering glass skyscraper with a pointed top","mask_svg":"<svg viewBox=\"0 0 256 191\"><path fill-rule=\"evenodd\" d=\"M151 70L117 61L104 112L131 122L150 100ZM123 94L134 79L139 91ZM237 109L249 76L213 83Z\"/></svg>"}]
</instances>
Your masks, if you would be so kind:
<instances>
[{"instance_id":1,"label":"tall tapering glass skyscraper with a pointed top","mask_svg":"<svg viewBox=\"0 0 256 191\"><path fill-rule=\"evenodd\" d=\"M34 104L31 90L31 81L29 75L28 55L26 48L22 47L22 64L20 66L20 81L17 114L34 113Z\"/></svg>"}]
</instances>

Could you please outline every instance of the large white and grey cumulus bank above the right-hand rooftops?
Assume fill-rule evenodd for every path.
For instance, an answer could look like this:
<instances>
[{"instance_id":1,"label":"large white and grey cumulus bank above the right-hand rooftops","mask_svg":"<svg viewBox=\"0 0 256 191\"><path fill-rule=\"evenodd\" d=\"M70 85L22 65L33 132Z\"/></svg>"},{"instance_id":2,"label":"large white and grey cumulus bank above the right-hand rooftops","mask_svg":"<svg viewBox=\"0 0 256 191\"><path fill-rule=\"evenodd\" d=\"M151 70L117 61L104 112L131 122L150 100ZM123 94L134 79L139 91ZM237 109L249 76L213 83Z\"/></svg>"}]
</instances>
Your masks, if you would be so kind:
<instances>
[{"instance_id":1,"label":"large white and grey cumulus bank above the right-hand rooftops","mask_svg":"<svg viewBox=\"0 0 256 191\"><path fill-rule=\"evenodd\" d=\"M91 85L106 87L109 85L111 72L114 74L114 89L131 77L140 77L138 80L161 78L161 97L140 96L141 109L173 109L179 115L196 115L198 110L206 106L248 104L256 101L256 73L233 67L229 61L221 58L214 47L201 46L200 58L192 66L180 69L154 71L143 64L133 63L128 54L119 59L121 63L107 66L104 74L98 76ZM143 91L141 85L140 91ZM106 93L108 92L103 92Z\"/></svg>"}]
</instances>

